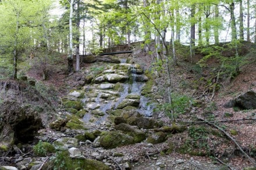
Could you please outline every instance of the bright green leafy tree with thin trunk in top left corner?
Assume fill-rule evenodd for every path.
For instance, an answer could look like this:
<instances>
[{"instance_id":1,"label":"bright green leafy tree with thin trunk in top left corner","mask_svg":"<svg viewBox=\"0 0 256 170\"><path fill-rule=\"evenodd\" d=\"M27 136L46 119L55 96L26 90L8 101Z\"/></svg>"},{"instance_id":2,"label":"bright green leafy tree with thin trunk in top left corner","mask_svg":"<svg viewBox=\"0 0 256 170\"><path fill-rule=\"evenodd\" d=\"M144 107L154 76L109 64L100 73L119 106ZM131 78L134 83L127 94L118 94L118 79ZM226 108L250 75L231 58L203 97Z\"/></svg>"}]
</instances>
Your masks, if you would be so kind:
<instances>
[{"instance_id":1,"label":"bright green leafy tree with thin trunk in top left corner","mask_svg":"<svg viewBox=\"0 0 256 170\"><path fill-rule=\"evenodd\" d=\"M44 26L44 21L38 18L48 12L49 5L51 5L49 1L43 0L3 0L1 2L0 46L5 49L5 54L12 56L13 79L17 79L19 58L22 53L31 49L37 37L35 34L40 34L37 31L38 28Z\"/></svg>"}]
</instances>

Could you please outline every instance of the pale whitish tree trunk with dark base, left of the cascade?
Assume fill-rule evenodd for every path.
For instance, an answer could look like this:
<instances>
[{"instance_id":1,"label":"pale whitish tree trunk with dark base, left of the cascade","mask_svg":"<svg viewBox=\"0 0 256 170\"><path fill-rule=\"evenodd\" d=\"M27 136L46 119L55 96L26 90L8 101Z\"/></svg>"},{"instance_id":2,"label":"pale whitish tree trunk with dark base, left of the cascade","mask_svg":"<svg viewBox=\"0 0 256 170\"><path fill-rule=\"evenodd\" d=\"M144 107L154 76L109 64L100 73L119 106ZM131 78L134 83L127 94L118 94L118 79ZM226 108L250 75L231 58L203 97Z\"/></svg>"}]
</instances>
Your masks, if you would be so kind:
<instances>
[{"instance_id":1,"label":"pale whitish tree trunk with dark base, left of the cascade","mask_svg":"<svg viewBox=\"0 0 256 170\"><path fill-rule=\"evenodd\" d=\"M69 55L67 56L67 70L69 73L74 72L73 66L73 27L72 27L72 19L73 19L73 3L74 0L70 1L70 13L69 13Z\"/></svg>"}]
</instances>

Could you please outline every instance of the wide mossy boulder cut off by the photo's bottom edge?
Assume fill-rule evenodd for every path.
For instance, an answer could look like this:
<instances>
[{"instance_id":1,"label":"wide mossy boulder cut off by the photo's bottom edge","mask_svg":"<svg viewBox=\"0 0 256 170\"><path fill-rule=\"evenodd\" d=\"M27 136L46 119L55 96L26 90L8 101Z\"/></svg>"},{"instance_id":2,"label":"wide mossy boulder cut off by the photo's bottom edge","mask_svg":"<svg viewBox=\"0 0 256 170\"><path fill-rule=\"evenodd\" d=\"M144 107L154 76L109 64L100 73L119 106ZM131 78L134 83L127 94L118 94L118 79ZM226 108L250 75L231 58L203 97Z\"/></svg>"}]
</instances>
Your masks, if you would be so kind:
<instances>
[{"instance_id":1,"label":"wide mossy boulder cut off by the photo's bottom edge","mask_svg":"<svg viewBox=\"0 0 256 170\"><path fill-rule=\"evenodd\" d=\"M56 154L56 158L45 164L43 169L90 169L90 170L110 170L104 163L90 159L74 159L69 157L68 151L62 151Z\"/></svg>"}]
</instances>

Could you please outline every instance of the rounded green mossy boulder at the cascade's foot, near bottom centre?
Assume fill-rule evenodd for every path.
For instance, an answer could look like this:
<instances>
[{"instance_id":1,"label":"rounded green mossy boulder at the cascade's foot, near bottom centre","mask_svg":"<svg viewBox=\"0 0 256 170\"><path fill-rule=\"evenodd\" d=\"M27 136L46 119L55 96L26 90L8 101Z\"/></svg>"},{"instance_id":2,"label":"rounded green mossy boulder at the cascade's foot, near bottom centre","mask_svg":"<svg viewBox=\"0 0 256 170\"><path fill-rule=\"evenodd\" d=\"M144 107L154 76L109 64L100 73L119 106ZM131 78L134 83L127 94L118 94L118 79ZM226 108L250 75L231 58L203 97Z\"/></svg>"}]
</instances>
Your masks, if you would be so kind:
<instances>
[{"instance_id":1,"label":"rounded green mossy boulder at the cascade's foot, near bottom centre","mask_svg":"<svg viewBox=\"0 0 256 170\"><path fill-rule=\"evenodd\" d=\"M105 149L113 149L119 146L134 144L134 139L130 135L117 131L106 132L99 139L99 143Z\"/></svg>"}]
</instances>

